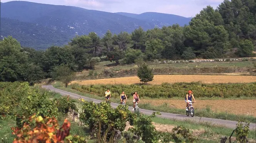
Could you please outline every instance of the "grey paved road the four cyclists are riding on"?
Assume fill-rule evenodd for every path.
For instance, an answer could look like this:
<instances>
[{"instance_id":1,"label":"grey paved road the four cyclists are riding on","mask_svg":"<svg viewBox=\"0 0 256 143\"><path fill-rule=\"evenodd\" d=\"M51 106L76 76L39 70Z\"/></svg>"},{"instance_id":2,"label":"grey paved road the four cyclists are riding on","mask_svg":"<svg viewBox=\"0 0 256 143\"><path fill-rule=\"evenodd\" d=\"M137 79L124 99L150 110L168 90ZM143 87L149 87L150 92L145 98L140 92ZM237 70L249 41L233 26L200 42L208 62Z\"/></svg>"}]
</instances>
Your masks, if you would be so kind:
<instances>
[{"instance_id":1,"label":"grey paved road the four cyclists are riding on","mask_svg":"<svg viewBox=\"0 0 256 143\"><path fill-rule=\"evenodd\" d=\"M82 98L84 100L93 101L95 103L102 102L101 100L88 98L88 97L81 96L81 95L78 95L78 94L75 94L75 93L70 93L70 92L67 92L67 91L64 91L64 90L61 90L61 89L54 88L52 85L45 85L45 86L42 86L42 88L49 89L51 91L55 91L56 93L60 93L63 96L69 95L71 98L74 98L74 99ZM114 108L117 107L118 105L119 104L117 104L117 103L111 103L111 106L114 107ZM132 110L132 107L129 106L129 109ZM151 115L153 112L156 112L156 111L146 110L146 109L140 109L139 111L144 113L144 114L147 114L147 115ZM184 115L165 113L165 112L160 112L160 113L161 113L161 115L157 115L158 117L168 118L168 119L179 119L179 120L189 119L189 120L194 120L196 122L200 122L200 121L212 122L213 124L225 125L226 127L229 127L229 128L236 128L236 123L238 123L236 121L211 119L211 118L205 118L205 117L196 117L196 116L187 117L185 115L185 112L184 112ZM250 130L255 130L255 129L256 129L256 124L255 123L250 123Z\"/></svg>"}]
</instances>

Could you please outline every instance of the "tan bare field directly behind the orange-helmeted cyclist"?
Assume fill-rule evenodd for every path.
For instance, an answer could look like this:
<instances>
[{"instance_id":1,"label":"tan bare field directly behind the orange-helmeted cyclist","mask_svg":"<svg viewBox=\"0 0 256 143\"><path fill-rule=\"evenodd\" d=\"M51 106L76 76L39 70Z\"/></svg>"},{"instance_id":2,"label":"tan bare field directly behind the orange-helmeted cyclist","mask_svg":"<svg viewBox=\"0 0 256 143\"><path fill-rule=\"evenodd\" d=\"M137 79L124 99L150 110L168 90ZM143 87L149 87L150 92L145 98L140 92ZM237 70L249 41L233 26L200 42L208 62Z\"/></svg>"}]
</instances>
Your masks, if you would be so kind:
<instances>
[{"instance_id":1,"label":"tan bare field directly behind the orange-helmeted cyclist","mask_svg":"<svg viewBox=\"0 0 256 143\"><path fill-rule=\"evenodd\" d=\"M195 97L196 98L196 97ZM196 100L193 104L195 109L205 109L207 106L211 107L214 112L227 112L237 115L251 115L256 116L256 107L254 103L256 99L239 99L239 100ZM170 99L141 99L141 104L152 104L160 106L164 103L169 104L170 108L184 109L186 107L184 100L170 100Z\"/></svg>"}]
</instances>

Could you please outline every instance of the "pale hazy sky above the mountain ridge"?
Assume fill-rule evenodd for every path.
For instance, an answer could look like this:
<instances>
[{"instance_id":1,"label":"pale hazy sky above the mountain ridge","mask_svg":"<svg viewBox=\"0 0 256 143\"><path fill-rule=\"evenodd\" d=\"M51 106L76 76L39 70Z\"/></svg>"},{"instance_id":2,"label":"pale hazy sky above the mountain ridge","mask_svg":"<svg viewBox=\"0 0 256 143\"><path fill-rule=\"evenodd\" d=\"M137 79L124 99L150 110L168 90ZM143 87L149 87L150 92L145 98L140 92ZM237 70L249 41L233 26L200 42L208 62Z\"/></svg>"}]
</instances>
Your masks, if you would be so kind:
<instances>
[{"instance_id":1,"label":"pale hazy sky above the mountain ridge","mask_svg":"<svg viewBox=\"0 0 256 143\"><path fill-rule=\"evenodd\" d=\"M13 0L1 0L10 2ZM202 8L211 5L214 9L223 0L23 0L36 3L53 5L78 6L90 10L107 12L144 13L159 12L180 15L185 17L195 16Z\"/></svg>"}]
</instances>

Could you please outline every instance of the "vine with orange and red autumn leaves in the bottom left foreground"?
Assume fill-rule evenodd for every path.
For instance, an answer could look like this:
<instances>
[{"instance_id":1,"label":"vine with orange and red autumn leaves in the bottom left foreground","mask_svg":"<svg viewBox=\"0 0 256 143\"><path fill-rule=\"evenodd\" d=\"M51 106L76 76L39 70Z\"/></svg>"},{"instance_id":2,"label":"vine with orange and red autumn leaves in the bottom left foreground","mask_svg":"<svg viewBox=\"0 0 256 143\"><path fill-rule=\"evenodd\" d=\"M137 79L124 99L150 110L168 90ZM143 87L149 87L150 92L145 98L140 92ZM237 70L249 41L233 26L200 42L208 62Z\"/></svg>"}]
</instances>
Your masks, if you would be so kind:
<instances>
[{"instance_id":1,"label":"vine with orange and red autumn leaves in the bottom left foreground","mask_svg":"<svg viewBox=\"0 0 256 143\"><path fill-rule=\"evenodd\" d=\"M17 135L13 143L84 143L85 138L80 136L69 135L70 122L66 119L61 128L55 118L46 119L41 116L31 117L31 122L35 122L35 126L24 125L20 130L12 128L13 134Z\"/></svg>"}]
</instances>

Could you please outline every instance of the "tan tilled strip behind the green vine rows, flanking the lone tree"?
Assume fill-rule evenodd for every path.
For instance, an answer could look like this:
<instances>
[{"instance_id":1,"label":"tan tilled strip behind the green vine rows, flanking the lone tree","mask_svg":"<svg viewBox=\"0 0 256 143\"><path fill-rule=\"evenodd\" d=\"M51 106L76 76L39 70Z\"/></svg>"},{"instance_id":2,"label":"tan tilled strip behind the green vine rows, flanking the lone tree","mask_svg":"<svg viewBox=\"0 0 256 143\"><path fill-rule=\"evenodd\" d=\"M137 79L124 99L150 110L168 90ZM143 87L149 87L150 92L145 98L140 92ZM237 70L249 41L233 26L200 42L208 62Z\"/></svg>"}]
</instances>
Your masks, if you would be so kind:
<instances>
[{"instance_id":1,"label":"tan tilled strip behind the green vine rows, flanking the lone tree","mask_svg":"<svg viewBox=\"0 0 256 143\"><path fill-rule=\"evenodd\" d=\"M256 82L256 76L241 75L154 75L154 80L149 82L152 85L159 85L164 82L192 82L201 81L203 83L250 83ZM134 84L141 83L137 76L122 78L107 78L98 80L72 81L81 85L91 84Z\"/></svg>"}]
</instances>

